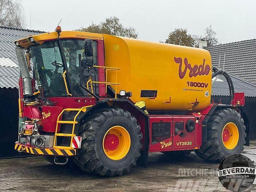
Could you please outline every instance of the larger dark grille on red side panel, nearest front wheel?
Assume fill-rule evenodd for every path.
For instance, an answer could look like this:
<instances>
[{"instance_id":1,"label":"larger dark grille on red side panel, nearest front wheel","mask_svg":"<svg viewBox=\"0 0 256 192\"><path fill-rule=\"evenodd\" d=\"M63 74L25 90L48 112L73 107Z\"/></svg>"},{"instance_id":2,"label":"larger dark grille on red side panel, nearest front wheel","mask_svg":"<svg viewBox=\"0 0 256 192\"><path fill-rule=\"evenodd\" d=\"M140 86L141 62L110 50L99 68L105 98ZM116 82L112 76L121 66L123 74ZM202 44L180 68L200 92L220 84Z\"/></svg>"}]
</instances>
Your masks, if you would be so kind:
<instances>
[{"instance_id":1,"label":"larger dark grille on red side panel, nearest front wheel","mask_svg":"<svg viewBox=\"0 0 256 192\"><path fill-rule=\"evenodd\" d=\"M171 123L152 123L152 143L160 142L171 137Z\"/></svg>"}]
</instances>

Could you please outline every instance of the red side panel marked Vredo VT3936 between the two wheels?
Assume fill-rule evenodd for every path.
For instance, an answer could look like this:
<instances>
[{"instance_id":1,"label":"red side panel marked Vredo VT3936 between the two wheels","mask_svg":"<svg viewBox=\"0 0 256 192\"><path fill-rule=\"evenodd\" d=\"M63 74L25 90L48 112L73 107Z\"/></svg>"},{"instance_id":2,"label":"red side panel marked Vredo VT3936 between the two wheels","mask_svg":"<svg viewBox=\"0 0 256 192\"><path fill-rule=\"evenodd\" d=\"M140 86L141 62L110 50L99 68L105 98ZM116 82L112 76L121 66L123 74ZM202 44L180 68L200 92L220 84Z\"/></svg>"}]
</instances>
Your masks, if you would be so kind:
<instances>
[{"instance_id":1,"label":"red side panel marked Vredo VT3936 between the two wheels","mask_svg":"<svg viewBox=\"0 0 256 192\"><path fill-rule=\"evenodd\" d=\"M149 152L199 149L202 122L199 114L149 115ZM195 129L188 131L187 122Z\"/></svg>"}]
</instances>

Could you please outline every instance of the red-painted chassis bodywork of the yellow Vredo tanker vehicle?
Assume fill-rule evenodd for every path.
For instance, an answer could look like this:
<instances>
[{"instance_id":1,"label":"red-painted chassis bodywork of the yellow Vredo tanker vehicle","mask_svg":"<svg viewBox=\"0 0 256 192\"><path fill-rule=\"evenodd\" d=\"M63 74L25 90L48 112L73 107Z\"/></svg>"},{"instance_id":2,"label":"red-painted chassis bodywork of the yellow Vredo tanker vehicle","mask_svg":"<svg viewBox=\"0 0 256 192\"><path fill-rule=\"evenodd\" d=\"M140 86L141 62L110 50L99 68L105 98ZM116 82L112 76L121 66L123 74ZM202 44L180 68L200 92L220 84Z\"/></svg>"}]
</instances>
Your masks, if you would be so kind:
<instances>
[{"instance_id":1,"label":"red-painted chassis bodywork of the yellow Vredo tanker vehicle","mask_svg":"<svg viewBox=\"0 0 256 192\"><path fill-rule=\"evenodd\" d=\"M57 117L64 108L81 108L89 105L93 105L94 107L97 106L95 98L69 97L49 99L56 103L55 106L24 106L22 116L27 116L30 119L42 119L42 131L52 134L54 134L56 129ZM103 99L104 98L100 98L100 100ZM244 94L236 93L232 103L244 105ZM142 150L148 148L148 152L161 152L200 149L203 138L202 130L204 118L211 110L214 110L216 106L221 106L221 104L211 104L198 113L186 113L181 115L148 115L148 118L144 118L138 113L137 108L126 106L126 110L130 111L138 119L138 123L141 125L141 132L143 134ZM194 130L188 131L188 121L194 122ZM147 127L148 142L146 142Z\"/></svg>"}]
</instances>

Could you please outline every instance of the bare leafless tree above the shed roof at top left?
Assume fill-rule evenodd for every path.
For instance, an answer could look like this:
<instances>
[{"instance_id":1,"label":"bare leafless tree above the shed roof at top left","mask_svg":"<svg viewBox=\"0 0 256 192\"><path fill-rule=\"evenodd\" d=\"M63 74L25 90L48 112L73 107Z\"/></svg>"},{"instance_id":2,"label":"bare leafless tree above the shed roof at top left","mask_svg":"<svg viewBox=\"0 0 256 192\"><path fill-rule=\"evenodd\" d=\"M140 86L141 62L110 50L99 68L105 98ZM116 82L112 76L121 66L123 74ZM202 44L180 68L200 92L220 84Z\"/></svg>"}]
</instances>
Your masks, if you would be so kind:
<instances>
[{"instance_id":1,"label":"bare leafless tree above the shed roof at top left","mask_svg":"<svg viewBox=\"0 0 256 192\"><path fill-rule=\"evenodd\" d=\"M25 16L20 0L0 0L0 25L22 28Z\"/></svg>"}]
</instances>

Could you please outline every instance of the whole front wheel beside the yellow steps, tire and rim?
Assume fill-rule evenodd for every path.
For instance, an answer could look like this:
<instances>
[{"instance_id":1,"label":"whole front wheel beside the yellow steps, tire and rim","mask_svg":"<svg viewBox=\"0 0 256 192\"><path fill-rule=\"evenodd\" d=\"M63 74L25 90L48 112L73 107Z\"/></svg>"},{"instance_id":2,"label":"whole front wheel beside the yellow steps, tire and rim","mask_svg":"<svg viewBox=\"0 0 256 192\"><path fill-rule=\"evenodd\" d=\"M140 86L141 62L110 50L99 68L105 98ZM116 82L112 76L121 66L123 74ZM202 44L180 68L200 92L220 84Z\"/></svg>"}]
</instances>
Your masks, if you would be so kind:
<instances>
[{"instance_id":1,"label":"whole front wheel beside the yellow steps, tire and rim","mask_svg":"<svg viewBox=\"0 0 256 192\"><path fill-rule=\"evenodd\" d=\"M104 108L92 114L80 127L82 145L74 162L85 172L121 176L140 157L140 125L130 112Z\"/></svg>"}]
</instances>

